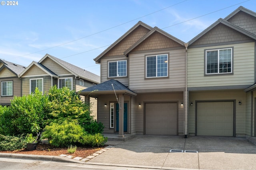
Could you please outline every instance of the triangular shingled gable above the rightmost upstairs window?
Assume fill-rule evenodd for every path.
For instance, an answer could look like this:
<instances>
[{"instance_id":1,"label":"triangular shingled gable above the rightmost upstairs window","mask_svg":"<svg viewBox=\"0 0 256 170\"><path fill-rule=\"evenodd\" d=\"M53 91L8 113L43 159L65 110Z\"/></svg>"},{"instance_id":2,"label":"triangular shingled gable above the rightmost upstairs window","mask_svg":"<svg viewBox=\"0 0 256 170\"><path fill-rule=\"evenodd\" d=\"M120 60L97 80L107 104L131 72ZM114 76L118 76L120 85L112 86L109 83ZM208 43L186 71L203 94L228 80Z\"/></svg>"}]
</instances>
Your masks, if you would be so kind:
<instances>
[{"instance_id":1,"label":"triangular shingled gable above the rightmost upstairs window","mask_svg":"<svg viewBox=\"0 0 256 170\"><path fill-rule=\"evenodd\" d=\"M204 45L213 43L225 43L232 41L244 41L250 40L251 38L222 24L219 23L210 31L205 33L202 37L197 39L193 45Z\"/></svg>"}]
</instances>

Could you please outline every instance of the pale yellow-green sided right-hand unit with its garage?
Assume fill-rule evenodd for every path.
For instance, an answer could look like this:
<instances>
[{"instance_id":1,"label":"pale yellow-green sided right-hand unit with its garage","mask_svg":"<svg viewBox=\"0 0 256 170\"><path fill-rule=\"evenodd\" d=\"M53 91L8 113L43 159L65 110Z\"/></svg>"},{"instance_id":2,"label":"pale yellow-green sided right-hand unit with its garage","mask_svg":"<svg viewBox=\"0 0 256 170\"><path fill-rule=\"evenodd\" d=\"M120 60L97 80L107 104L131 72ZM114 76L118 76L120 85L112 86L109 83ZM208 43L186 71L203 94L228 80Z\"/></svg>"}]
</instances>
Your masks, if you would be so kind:
<instances>
[{"instance_id":1,"label":"pale yellow-green sided right-hand unit with its garage","mask_svg":"<svg viewBox=\"0 0 256 170\"><path fill-rule=\"evenodd\" d=\"M189 41L188 133L256 136L255 42L256 13L243 7Z\"/></svg>"}]
</instances>

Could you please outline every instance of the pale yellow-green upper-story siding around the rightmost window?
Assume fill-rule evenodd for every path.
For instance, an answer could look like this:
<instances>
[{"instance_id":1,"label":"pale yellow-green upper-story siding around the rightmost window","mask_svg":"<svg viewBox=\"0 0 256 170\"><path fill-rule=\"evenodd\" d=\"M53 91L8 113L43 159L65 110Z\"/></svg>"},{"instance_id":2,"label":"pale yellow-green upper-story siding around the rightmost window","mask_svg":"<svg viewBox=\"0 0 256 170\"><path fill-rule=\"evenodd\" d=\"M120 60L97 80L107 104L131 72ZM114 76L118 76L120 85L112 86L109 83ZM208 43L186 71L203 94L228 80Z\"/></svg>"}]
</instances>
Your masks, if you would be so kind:
<instances>
[{"instance_id":1,"label":"pale yellow-green upper-story siding around the rightmost window","mask_svg":"<svg viewBox=\"0 0 256 170\"><path fill-rule=\"evenodd\" d=\"M204 76L204 49L234 47L234 74ZM188 49L188 87L251 85L254 83L254 43Z\"/></svg>"}]
</instances>

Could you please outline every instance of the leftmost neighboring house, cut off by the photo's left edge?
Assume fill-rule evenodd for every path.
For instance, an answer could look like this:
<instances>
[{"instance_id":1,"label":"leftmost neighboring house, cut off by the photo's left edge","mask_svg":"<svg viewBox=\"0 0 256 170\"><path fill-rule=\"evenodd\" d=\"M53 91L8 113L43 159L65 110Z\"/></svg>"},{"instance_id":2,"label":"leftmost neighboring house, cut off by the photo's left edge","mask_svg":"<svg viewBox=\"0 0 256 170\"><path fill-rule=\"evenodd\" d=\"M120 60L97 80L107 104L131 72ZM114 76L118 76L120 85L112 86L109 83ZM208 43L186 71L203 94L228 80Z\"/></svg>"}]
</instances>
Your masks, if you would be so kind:
<instances>
[{"instance_id":1,"label":"leftmost neighboring house, cut off by the photo's left edge","mask_svg":"<svg viewBox=\"0 0 256 170\"><path fill-rule=\"evenodd\" d=\"M0 81L1 81L1 105L10 105L10 100L14 96L22 96L21 94L21 79L18 74L26 67L19 64L10 63L5 60L0 60Z\"/></svg>"}]
</instances>

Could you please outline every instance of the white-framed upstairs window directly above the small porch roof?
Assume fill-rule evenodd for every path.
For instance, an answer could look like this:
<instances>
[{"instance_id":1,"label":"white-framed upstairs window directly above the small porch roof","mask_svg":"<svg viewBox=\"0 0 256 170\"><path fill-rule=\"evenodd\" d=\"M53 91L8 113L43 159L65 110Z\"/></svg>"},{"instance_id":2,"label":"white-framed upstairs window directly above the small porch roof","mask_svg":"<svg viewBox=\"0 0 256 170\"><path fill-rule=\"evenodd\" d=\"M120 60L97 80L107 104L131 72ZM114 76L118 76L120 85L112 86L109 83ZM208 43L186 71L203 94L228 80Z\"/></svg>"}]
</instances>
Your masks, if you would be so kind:
<instances>
[{"instance_id":1,"label":"white-framed upstairs window directly above the small porch roof","mask_svg":"<svg viewBox=\"0 0 256 170\"><path fill-rule=\"evenodd\" d=\"M108 62L108 77L125 77L127 76L127 61L110 61Z\"/></svg>"}]
</instances>

